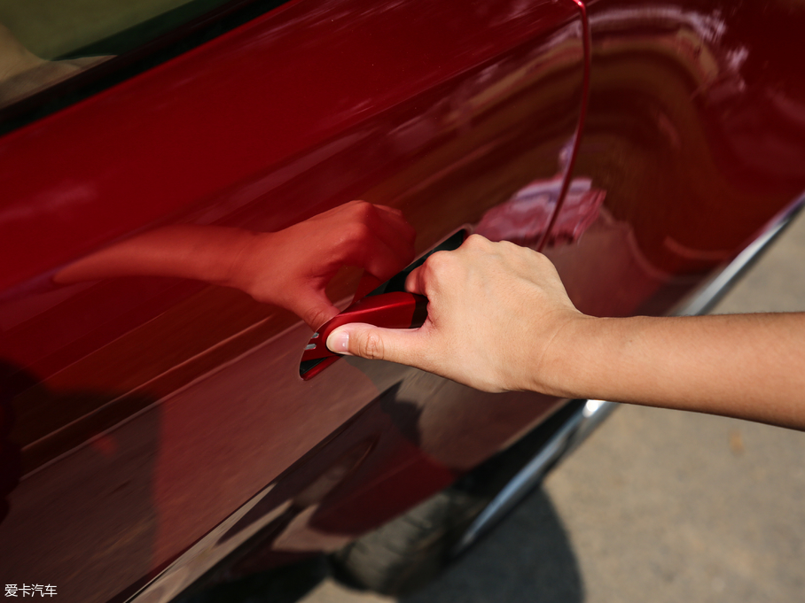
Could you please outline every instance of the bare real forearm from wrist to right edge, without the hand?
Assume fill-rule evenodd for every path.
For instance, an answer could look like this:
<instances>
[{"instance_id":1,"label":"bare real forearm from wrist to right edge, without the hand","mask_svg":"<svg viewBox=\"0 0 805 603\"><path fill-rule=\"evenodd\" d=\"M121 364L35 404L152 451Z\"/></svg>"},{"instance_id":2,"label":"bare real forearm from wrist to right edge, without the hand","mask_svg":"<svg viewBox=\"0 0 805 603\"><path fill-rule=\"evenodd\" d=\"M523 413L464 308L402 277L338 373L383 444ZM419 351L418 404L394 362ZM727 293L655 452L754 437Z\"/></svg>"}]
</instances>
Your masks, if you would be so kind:
<instances>
[{"instance_id":1,"label":"bare real forearm from wrist to right edge, without the hand","mask_svg":"<svg viewBox=\"0 0 805 603\"><path fill-rule=\"evenodd\" d=\"M585 317L551 344L555 393L805 429L805 313Z\"/></svg>"}]
</instances>

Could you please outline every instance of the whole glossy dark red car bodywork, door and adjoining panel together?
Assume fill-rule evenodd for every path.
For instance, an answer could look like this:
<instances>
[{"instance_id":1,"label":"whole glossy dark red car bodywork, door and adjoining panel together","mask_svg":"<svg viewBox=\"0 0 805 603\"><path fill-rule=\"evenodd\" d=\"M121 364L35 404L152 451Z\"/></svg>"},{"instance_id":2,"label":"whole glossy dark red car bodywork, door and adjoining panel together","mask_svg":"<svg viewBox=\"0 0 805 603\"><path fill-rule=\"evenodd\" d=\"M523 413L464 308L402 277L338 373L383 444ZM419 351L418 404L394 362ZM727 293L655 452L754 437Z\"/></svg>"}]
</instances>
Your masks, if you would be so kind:
<instances>
[{"instance_id":1,"label":"whole glossy dark red car bodywork, door and adjoining panel together","mask_svg":"<svg viewBox=\"0 0 805 603\"><path fill-rule=\"evenodd\" d=\"M198 280L52 282L78 259L363 199L417 254L475 228L543 246L583 312L659 314L790 209L805 7L586 4L589 76L571 0L294 0L0 137L5 582L122 600L267 525L264 567L332 551L562 404L360 359L305 381L293 313Z\"/></svg>"}]
</instances>

